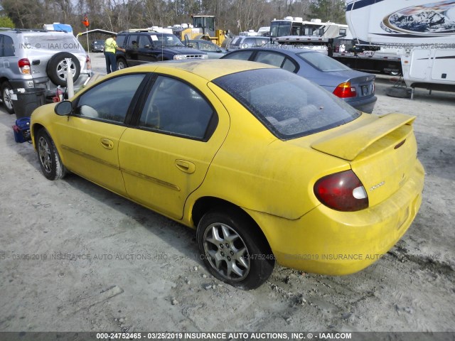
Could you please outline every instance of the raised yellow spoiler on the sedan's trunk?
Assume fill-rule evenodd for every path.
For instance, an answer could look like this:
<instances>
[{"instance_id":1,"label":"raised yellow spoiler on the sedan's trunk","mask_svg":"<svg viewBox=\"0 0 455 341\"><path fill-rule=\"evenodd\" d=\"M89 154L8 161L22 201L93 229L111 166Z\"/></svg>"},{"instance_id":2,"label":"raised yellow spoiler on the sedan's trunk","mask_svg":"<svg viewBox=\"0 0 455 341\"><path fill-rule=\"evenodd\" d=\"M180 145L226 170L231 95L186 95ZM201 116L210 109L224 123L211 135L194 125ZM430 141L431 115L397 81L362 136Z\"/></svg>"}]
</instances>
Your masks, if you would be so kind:
<instances>
[{"instance_id":1,"label":"raised yellow spoiler on the sedan's trunk","mask_svg":"<svg viewBox=\"0 0 455 341\"><path fill-rule=\"evenodd\" d=\"M352 130L337 131L311 144L311 148L326 154L353 161L366 148L382 137L390 134L401 126L412 125L416 117L406 114L386 114L375 117L374 120L365 120L361 126ZM373 119L373 116L372 116Z\"/></svg>"}]
</instances>

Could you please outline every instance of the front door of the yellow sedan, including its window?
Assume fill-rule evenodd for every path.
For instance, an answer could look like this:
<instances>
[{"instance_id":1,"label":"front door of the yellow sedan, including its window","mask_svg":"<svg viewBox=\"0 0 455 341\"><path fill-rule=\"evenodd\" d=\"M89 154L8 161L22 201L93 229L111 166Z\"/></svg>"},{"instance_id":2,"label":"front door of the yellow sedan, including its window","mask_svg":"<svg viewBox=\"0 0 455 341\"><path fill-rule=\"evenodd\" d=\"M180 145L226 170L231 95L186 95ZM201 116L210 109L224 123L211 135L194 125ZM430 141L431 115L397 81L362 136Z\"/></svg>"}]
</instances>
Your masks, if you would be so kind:
<instances>
[{"instance_id":1,"label":"front door of the yellow sedan, including its window","mask_svg":"<svg viewBox=\"0 0 455 341\"><path fill-rule=\"evenodd\" d=\"M146 75L110 78L77 99L74 114L58 127L65 166L109 190L125 195L119 167L119 139L134 96Z\"/></svg>"}]
</instances>

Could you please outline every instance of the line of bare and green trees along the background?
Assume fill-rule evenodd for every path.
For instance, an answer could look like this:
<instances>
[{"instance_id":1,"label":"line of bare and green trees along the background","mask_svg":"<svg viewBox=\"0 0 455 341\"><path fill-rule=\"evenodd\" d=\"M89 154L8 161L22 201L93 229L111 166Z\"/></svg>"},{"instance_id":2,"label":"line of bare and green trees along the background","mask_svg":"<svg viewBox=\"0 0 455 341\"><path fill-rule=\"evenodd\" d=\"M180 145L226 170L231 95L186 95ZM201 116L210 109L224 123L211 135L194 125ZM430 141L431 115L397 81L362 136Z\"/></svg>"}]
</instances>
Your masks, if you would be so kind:
<instances>
[{"instance_id":1,"label":"line of bare and green trees along the background","mask_svg":"<svg viewBox=\"0 0 455 341\"><path fill-rule=\"evenodd\" d=\"M89 29L119 32L192 23L191 14L210 14L216 28L237 34L285 16L346 23L344 9L344 0L0 0L0 26L42 28L60 22L77 33L85 31L86 14Z\"/></svg>"}]
</instances>

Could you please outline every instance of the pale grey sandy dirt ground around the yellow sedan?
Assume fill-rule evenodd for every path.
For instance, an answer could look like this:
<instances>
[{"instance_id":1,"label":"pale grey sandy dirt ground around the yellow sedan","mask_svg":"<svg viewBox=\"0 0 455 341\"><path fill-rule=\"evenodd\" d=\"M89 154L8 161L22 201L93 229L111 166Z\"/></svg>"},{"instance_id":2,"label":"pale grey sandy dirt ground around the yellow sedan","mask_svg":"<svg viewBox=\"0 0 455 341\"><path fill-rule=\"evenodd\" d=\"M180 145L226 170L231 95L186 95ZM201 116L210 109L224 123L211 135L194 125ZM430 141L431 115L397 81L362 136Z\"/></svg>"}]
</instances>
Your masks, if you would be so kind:
<instances>
[{"instance_id":1,"label":"pale grey sandy dirt ground around the yellow sedan","mask_svg":"<svg viewBox=\"0 0 455 341\"><path fill-rule=\"evenodd\" d=\"M373 114L417 116L427 173L409 231L358 274L277 266L255 291L212 278L191 229L75 175L46 180L1 109L0 331L455 331L455 95L388 86Z\"/></svg>"}]
</instances>

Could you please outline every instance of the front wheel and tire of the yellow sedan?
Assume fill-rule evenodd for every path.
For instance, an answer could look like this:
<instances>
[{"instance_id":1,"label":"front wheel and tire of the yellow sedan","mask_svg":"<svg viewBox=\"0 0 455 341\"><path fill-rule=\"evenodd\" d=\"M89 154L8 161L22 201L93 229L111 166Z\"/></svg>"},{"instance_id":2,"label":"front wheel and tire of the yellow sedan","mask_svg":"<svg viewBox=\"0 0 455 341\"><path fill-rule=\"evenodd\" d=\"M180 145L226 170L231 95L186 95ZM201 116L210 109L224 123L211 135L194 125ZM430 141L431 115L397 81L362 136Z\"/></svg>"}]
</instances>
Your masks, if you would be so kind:
<instances>
[{"instance_id":1,"label":"front wheel and tire of the yellow sedan","mask_svg":"<svg viewBox=\"0 0 455 341\"><path fill-rule=\"evenodd\" d=\"M38 151L38 161L43 175L48 180L58 180L66 175L66 168L63 166L60 155L53 139L45 129L41 129L36 134L36 150Z\"/></svg>"}]
</instances>

